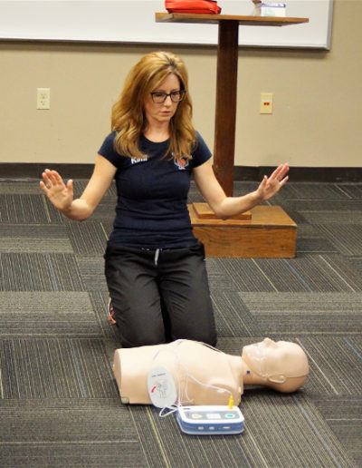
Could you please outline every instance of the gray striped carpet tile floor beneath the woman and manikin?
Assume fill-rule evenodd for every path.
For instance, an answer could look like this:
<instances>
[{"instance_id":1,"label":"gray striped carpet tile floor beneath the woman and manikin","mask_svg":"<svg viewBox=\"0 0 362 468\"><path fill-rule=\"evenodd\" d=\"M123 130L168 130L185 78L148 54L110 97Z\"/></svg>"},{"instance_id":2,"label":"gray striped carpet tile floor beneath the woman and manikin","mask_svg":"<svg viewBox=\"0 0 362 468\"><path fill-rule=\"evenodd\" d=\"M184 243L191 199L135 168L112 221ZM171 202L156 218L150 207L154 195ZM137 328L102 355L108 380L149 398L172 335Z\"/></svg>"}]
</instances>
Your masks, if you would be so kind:
<instances>
[{"instance_id":1,"label":"gray striped carpet tile floor beneath the woman and manikin","mask_svg":"<svg viewBox=\"0 0 362 468\"><path fill-rule=\"evenodd\" d=\"M296 258L207 258L218 347L294 341L309 378L291 395L245 388L241 435L189 436L119 400L102 258L114 186L77 223L38 181L0 180L0 465L362 466L362 184L289 182L270 203L298 224Z\"/></svg>"}]
</instances>

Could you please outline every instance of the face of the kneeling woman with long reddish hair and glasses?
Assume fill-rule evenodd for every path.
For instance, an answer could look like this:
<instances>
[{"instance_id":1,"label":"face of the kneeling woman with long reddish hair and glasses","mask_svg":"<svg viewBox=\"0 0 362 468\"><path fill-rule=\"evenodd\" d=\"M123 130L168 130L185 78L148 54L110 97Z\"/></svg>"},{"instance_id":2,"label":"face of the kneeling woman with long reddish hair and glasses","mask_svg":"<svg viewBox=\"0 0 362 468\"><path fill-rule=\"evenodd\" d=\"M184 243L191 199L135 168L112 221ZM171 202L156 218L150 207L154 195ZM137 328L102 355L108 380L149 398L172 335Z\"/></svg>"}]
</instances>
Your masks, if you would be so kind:
<instances>
[{"instance_id":1,"label":"face of the kneeling woman with long reddish hair and glasses","mask_svg":"<svg viewBox=\"0 0 362 468\"><path fill-rule=\"evenodd\" d=\"M157 86L153 92L172 93L180 90L180 81L176 74L170 73L165 80ZM145 114L149 126L169 123L177 110L178 102L171 101L171 97L167 96L165 102L157 104L152 101L152 96L148 94L145 100Z\"/></svg>"}]
</instances>

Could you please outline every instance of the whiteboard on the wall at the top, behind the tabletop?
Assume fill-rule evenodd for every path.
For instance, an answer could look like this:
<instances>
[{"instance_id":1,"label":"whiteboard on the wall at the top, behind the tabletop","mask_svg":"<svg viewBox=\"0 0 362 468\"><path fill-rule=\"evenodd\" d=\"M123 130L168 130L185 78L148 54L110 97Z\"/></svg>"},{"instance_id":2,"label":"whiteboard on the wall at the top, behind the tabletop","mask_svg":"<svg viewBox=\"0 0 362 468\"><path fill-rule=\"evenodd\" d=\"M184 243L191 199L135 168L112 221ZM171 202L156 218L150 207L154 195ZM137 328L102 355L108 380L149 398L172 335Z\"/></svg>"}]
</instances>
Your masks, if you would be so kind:
<instances>
[{"instance_id":1,"label":"whiteboard on the wall at the top, behind the tabletop","mask_svg":"<svg viewBox=\"0 0 362 468\"><path fill-rule=\"evenodd\" d=\"M242 46L330 48L333 0L279 0L307 24L240 26ZM218 0L222 15L252 15L251 0ZM0 0L0 40L217 44L215 24L155 22L155 0Z\"/></svg>"}]
</instances>

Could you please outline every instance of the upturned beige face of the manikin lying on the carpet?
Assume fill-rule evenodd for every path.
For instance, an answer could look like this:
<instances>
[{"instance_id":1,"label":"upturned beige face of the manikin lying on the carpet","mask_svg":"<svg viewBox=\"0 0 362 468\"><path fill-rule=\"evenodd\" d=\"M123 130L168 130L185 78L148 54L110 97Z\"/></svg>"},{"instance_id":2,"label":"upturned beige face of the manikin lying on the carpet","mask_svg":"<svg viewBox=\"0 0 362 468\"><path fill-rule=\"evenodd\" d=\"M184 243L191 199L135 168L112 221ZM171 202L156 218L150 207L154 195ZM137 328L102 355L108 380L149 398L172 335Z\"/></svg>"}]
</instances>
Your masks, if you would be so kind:
<instances>
[{"instance_id":1,"label":"upturned beige face of the manikin lying on the carpet","mask_svg":"<svg viewBox=\"0 0 362 468\"><path fill-rule=\"evenodd\" d=\"M308 359L299 345L265 338L260 343L243 347L243 360L252 372L271 377L300 377L309 372Z\"/></svg>"}]
</instances>

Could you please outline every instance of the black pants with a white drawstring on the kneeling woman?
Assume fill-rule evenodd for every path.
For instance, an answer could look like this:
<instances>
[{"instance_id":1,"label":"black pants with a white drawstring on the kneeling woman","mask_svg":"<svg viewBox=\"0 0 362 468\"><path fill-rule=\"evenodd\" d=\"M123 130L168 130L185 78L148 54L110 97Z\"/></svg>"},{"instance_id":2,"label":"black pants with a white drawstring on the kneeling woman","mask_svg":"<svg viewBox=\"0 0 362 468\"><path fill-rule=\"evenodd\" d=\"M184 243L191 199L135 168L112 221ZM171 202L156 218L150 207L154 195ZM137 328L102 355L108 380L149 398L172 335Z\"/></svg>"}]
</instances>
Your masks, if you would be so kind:
<instances>
[{"instance_id":1,"label":"black pants with a white drawstring on the kneeling woman","mask_svg":"<svg viewBox=\"0 0 362 468\"><path fill-rule=\"evenodd\" d=\"M167 250L109 244L104 258L122 346L178 338L216 344L202 243Z\"/></svg>"}]
</instances>

